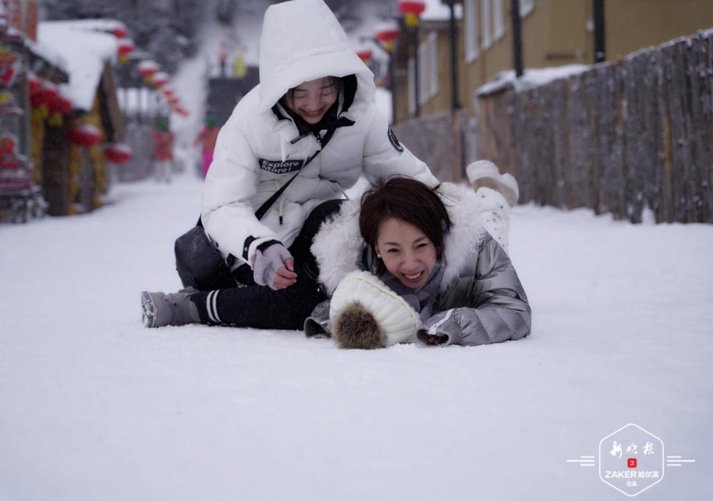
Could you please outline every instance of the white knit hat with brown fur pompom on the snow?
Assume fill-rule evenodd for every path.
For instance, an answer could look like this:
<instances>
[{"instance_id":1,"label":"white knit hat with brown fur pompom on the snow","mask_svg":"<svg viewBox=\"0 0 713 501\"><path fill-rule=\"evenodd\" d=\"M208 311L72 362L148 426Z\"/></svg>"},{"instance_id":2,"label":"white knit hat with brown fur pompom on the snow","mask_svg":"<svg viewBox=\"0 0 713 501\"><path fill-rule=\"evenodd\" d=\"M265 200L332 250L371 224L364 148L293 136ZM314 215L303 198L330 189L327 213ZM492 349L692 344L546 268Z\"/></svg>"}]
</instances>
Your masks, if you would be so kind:
<instances>
[{"instance_id":1,"label":"white knit hat with brown fur pompom on the snow","mask_svg":"<svg viewBox=\"0 0 713 501\"><path fill-rule=\"evenodd\" d=\"M369 272L351 272L329 304L332 334L341 348L384 348L416 339L421 319L401 296Z\"/></svg>"}]
</instances>

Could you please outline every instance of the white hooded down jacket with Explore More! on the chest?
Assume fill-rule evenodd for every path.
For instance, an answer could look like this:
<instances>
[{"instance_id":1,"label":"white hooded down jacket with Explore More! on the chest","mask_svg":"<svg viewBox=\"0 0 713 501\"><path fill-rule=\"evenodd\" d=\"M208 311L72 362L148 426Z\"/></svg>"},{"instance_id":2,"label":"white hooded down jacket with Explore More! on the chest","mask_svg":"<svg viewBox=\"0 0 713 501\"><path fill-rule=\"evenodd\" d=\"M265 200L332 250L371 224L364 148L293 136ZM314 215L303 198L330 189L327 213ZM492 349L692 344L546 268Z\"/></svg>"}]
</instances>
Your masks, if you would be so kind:
<instances>
[{"instance_id":1,"label":"white hooded down jacket with Explore More! on the chest","mask_svg":"<svg viewBox=\"0 0 713 501\"><path fill-rule=\"evenodd\" d=\"M340 93L337 110L348 125L337 128L320 151L326 130L319 131L319 139L300 135L278 101L305 81L350 75L356 76L356 93L351 103ZM373 73L350 48L323 0L286 1L267 9L260 85L240 100L220 130L203 187L202 224L223 257L232 254L239 263L250 262L257 247L270 240L289 247L309 212L342 197L362 173L370 181L407 175L427 185L438 183L391 132L374 105L374 91ZM258 221L255 211L300 168Z\"/></svg>"}]
</instances>

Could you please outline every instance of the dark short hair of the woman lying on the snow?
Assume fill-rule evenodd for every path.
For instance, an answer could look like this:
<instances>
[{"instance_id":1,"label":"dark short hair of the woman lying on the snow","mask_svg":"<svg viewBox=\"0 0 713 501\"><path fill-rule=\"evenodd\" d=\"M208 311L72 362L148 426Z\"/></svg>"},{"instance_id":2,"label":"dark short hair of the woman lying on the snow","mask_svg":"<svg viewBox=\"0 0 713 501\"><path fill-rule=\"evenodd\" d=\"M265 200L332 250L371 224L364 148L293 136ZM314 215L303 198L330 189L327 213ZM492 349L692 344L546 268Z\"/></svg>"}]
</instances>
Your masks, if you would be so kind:
<instances>
[{"instance_id":1,"label":"dark short hair of the woman lying on the snow","mask_svg":"<svg viewBox=\"0 0 713 501\"><path fill-rule=\"evenodd\" d=\"M379 224L396 217L419 228L436 246L436 256L443 257L443 237L451 231L441 197L430 187L410 177L390 177L379 180L361 195L359 232L366 244L375 250Z\"/></svg>"}]
</instances>

